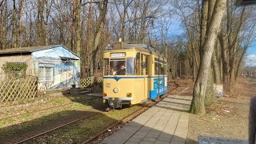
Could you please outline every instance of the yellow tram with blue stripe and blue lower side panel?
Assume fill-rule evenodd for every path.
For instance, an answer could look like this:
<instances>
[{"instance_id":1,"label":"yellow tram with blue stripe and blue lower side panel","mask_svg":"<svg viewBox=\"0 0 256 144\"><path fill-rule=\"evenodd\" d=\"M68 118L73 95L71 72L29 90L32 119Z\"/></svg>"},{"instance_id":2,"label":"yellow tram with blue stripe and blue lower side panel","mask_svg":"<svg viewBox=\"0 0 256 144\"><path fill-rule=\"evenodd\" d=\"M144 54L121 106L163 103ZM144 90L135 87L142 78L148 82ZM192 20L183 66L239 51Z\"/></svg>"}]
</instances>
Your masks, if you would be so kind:
<instances>
[{"instance_id":1,"label":"yellow tram with blue stripe and blue lower side panel","mask_svg":"<svg viewBox=\"0 0 256 144\"><path fill-rule=\"evenodd\" d=\"M146 44L115 42L103 53L103 102L137 104L167 91L166 58Z\"/></svg>"}]
</instances>

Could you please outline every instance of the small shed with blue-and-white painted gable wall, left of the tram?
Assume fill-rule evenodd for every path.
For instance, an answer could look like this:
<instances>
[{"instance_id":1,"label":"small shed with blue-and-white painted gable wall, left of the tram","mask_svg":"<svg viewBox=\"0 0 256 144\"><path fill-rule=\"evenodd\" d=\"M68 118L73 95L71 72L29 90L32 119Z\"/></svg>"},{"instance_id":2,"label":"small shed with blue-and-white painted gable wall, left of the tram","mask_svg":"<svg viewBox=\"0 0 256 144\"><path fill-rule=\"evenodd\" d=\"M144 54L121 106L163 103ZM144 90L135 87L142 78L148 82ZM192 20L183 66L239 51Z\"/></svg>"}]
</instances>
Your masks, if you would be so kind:
<instances>
[{"instance_id":1,"label":"small shed with blue-and-white painted gable wall, left of the tram","mask_svg":"<svg viewBox=\"0 0 256 144\"><path fill-rule=\"evenodd\" d=\"M80 82L80 57L62 45L0 50L0 80L6 62L26 64L26 75L38 77L38 90L70 87Z\"/></svg>"}]
</instances>

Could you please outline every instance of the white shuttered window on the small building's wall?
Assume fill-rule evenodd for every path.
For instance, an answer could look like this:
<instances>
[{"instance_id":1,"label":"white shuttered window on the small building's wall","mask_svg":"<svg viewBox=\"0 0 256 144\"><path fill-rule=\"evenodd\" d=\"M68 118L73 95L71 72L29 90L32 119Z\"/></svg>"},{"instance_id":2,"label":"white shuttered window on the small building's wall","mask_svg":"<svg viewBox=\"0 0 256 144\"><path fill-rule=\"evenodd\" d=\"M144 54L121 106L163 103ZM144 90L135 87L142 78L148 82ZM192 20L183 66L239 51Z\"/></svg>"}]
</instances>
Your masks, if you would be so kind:
<instances>
[{"instance_id":1,"label":"white shuttered window on the small building's wall","mask_svg":"<svg viewBox=\"0 0 256 144\"><path fill-rule=\"evenodd\" d=\"M54 68L39 66L39 74L38 74L39 82L52 82L54 81Z\"/></svg>"}]
</instances>

